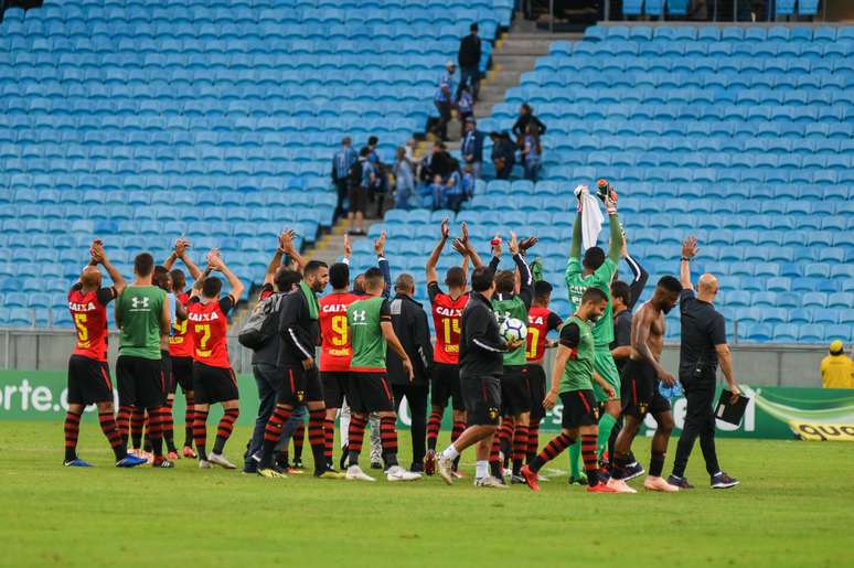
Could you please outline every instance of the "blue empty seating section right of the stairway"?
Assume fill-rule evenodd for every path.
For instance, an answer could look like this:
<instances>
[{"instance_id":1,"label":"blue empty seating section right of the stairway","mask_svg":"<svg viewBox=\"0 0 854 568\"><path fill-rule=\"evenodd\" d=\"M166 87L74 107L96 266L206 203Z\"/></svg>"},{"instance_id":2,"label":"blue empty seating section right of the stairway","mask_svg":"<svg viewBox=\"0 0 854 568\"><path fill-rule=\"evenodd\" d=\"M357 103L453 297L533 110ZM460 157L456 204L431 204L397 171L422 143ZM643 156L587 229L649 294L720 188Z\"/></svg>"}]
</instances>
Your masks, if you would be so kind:
<instances>
[{"instance_id":1,"label":"blue empty seating section right of the stairway","mask_svg":"<svg viewBox=\"0 0 854 568\"><path fill-rule=\"evenodd\" d=\"M591 28L554 43L479 125L509 130L531 101L548 126L542 181L482 184L456 218L481 254L509 228L541 237L535 250L567 314L572 189L608 178L653 281L677 270L680 240L697 235L694 268L719 276L730 336L737 325L739 341L852 341L853 63L854 28ZM401 269L420 274L446 215L388 214ZM671 337L677 321L672 313Z\"/></svg>"}]
</instances>

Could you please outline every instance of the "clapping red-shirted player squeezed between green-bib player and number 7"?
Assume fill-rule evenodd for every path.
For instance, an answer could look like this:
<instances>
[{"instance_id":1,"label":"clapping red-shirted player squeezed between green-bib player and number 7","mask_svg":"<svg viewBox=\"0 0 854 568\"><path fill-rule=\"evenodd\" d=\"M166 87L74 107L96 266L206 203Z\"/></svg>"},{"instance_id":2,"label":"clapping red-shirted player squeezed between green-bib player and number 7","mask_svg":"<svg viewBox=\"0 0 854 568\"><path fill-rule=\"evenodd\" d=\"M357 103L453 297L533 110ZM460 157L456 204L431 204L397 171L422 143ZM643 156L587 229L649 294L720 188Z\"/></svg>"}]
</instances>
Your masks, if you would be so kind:
<instances>
[{"instance_id":1,"label":"clapping red-shirted player squeezed between green-bib player and number 7","mask_svg":"<svg viewBox=\"0 0 854 568\"><path fill-rule=\"evenodd\" d=\"M190 294L184 290L186 288L186 276L183 270L173 268L175 260L180 259L186 269L190 271L190 278L196 281L202 271L193 262L188 255L186 249L190 247L190 242L183 238L179 238L175 242L174 250L166 259L163 266L170 270L169 275L172 277L172 292L175 294L178 303L186 309L186 304L190 302ZM175 320L172 325L172 333L169 335L169 356L172 358L172 388L169 392L167 398L167 406L170 410L174 404L175 390L178 386L181 386L181 390L184 394L184 401L186 408L184 409L184 446L181 450L181 454L184 458L196 458L195 450L193 450L193 422L195 421L195 394L193 393L193 343L192 335L189 333L186 319Z\"/></svg>"}]
</instances>

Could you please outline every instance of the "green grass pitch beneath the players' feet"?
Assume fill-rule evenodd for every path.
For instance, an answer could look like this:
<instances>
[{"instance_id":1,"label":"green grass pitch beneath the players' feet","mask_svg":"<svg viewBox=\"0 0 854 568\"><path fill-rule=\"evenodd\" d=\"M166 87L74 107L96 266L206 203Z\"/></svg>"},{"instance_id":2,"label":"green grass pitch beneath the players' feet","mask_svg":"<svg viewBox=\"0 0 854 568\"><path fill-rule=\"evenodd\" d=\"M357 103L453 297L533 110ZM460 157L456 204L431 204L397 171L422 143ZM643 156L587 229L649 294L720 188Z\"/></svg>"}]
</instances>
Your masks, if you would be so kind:
<instances>
[{"instance_id":1,"label":"green grass pitch beneath the players' feet","mask_svg":"<svg viewBox=\"0 0 854 568\"><path fill-rule=\"evenodd\" d=\"M233 461L248 433L235 430ZM649 440L634 450L645 463ZM117 470L93 422L79 454L97 467L72 470L61 424L0 421L0 566L854 565L854 446L720 440L722 463L743 480L729 491L708 489L695 451L691 492L588 495L555 473L535 494L478 490L470 478L266 480L189 460ZM469 474L472 461L467 452ZM565 470L566 457L549 465Z\"/></svg>"}]
</instances>

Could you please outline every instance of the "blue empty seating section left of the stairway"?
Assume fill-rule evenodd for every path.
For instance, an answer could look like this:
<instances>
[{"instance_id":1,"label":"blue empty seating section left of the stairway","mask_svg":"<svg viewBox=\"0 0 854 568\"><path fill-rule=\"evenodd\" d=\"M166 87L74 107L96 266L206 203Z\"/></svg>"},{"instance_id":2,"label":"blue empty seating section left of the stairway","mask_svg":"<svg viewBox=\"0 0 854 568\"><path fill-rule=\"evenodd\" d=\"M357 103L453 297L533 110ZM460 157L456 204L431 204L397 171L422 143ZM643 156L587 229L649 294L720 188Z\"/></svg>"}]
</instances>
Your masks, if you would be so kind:
<instances>
[{"instance_id":1,"label":"blue empty seating section left of the stairway","mask_svg":"<svg viewBox=\"0 0 854 568\"><path fill-rule=\"evenodd\" d=\"M180 235L258 282L329 226L340 139L423 131L471 21L512 0L47 0L0 24L0 325L68 325L97 235L126 275ZM487 42L484 42L484 45ZM488 58L484 58L484 64Z\"/></svg>"}]
</instances>

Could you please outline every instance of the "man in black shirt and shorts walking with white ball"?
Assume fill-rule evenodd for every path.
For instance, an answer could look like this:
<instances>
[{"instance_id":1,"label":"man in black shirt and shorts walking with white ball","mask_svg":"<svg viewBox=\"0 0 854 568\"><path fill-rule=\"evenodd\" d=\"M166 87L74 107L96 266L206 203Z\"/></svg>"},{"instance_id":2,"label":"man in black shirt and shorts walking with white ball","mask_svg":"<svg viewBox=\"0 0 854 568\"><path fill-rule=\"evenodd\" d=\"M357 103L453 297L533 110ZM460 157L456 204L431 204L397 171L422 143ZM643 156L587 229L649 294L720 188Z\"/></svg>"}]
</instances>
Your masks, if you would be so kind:
<instances>
[{"instance_id":1,"label":"man in black shirt and shorts walking with white ball","mask_svg":"<svg viewBox=\"0 0 854 568\"><path fill-rule=\"evenodd\" d=\"M474 269L471 289L460 320L460 392L469 427L439 454L437 470L450 485L453 483L453 460L466 448L478 444L474 485L506 489L504 483L489 474L489 456L501 416L503 354L508 350L521 349L525 342L508 343L499 332L491 301L495 292L491 268L478 266Z\"/></svg>"}]
</instances>

